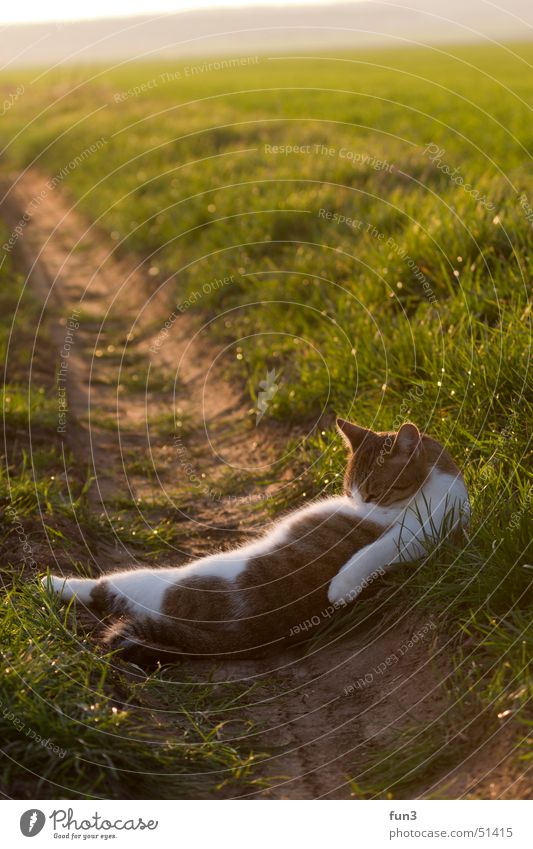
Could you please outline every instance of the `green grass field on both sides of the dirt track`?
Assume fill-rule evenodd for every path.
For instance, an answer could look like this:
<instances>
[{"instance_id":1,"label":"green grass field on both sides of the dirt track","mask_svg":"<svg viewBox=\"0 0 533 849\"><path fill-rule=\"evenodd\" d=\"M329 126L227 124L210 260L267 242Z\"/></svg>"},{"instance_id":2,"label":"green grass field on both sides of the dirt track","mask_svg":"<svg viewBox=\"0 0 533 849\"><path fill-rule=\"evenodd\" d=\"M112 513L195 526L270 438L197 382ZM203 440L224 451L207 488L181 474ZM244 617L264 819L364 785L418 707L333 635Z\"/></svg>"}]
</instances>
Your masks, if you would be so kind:
<instances>
[{"instance_id":1,"label":"green grass field on both sides of the dirt track","mask_svg":"<svg viewBox=\"0 0 533 849\"><path fill-rule=\"evenodd\" d=\"M412 579L387 578L390 598L380 601L383 617L416 607L437 621L454 669L447 708L438 723L407 723L391 749L369 751L349 776L355 796L402 798L432 782L445 794L443 776L502 730L513 768L531 759L532 61L531 45L509 45L28 71L2 117L4 175L38 167L118 256L141 257L154 289L165 282L179 311L209 322L251 405L275 369L268 419L288 438L308 435L302 477L271 510L339 489L335 412L376 430L412 419L464 469L468 542L439 549ZM21 77L0 84L13 92ZM22 279L10 255L0 274L1 339L12 352ZM73 795L215 795L205 779L180 781L191 759L197 772L226 771L244 787L250 751L220 742L216 717L206 727L191 719L204 703L216 715L224 699L212 687L179 685L177 758L164 724L161 745L147 747L153 720L143 726L142 710L132 718L123 709L131 700L149 711L163 673L140 684L110 671L105 658L78 651L83 632L72 637L66 619L50 634L27 581L35 569L15 544L20 519L44 571L43 524L72 527L72 504L50 480L53 375L37 370L30 396L24 382L38 315L25 293L4 392L4 787L30 787L32 797L53 796L54 781ZM25 434L30 413L38 445ZM80 482L78 514L84 493ZM373 604L355 605L328 634L357 626ZM50 675L52 656L72 687ZM119 710L110 676L114 686L119 676ZM76 682L94 702L78 704ZM57 753L29 743L28 729L68 752L59 770ZM191 740L201 745L187 748ZM172 764L176 775L158 785ZM129 770L148 777L133 786Z\"/></svg>"}]
</instances>

